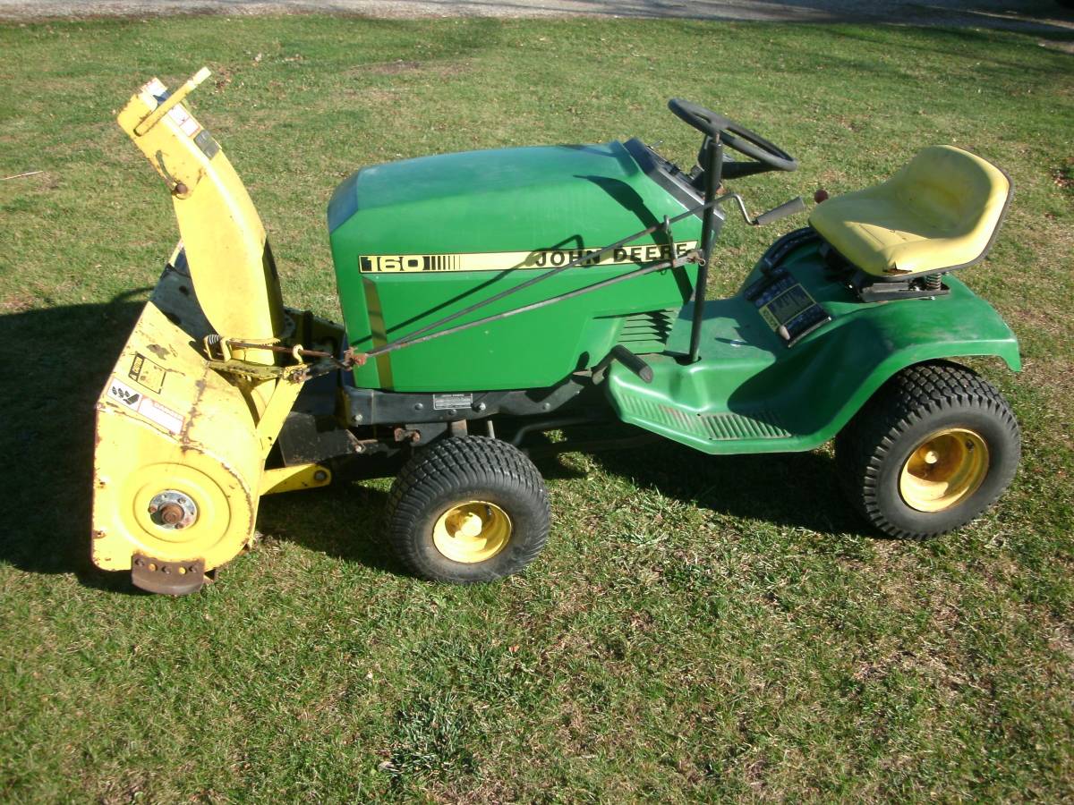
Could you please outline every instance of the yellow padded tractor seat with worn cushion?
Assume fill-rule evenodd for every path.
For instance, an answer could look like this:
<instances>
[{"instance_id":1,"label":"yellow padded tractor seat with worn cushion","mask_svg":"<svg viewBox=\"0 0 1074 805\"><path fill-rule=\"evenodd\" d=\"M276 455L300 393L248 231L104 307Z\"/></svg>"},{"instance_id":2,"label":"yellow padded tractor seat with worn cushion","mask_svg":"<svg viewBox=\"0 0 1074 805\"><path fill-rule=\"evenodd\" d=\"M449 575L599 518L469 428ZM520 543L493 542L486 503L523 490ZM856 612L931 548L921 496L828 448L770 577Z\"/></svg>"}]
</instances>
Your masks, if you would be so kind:
<instances>
[{"instance_id":1,"label":"yellow padded tractor seat with worn cushion","mask_svg":"<svg viewBox=\"0 0 1074 805\"><path fill-rule=\"evenodd\" d=\"M818 204L810 223L867 274L903 278L983 259L1010 195L1011 180L998 167L938 145L887 181Z\"/></svg>"}]
</instances>

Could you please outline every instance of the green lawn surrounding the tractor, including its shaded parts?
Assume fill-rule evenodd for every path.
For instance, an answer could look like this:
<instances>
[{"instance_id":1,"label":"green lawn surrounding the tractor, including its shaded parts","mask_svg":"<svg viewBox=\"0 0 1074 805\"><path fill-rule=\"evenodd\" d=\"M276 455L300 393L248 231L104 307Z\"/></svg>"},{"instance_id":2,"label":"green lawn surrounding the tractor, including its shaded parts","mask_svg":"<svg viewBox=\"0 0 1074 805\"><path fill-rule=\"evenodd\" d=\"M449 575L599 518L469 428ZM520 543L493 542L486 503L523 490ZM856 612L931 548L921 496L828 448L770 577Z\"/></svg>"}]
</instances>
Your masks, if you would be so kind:
<instances>
[{"instance_id":1,"label":"green lawn surrounding the tractor, including its shaded parts","mask_svg":"<svg viewBox=\"0 0 1074 805\"><path fill-rule=\"evenodd\" d=\"M0 174L44 171L0 182L0 799L1074 796L1069 53L972 29L299 16L9 26L0 54ZM257 550L201 595L130 594L87 561L93 401L176 232L113 118L202 63L195 113L289 302L325 314L323 209L363 164L630 135L686 161L671 96L800 158L740 182L754 209L924 145L995 160L1014 205L964 278L1022 342L1021 375L978 365L1024 426L1014 486L914 544L847 511L828 451L571 454L543 468L548 550L503 584L401 574L379 481L266 499ZM771 236L728 226L714 290Z\"/></svg>"}]
</instances>

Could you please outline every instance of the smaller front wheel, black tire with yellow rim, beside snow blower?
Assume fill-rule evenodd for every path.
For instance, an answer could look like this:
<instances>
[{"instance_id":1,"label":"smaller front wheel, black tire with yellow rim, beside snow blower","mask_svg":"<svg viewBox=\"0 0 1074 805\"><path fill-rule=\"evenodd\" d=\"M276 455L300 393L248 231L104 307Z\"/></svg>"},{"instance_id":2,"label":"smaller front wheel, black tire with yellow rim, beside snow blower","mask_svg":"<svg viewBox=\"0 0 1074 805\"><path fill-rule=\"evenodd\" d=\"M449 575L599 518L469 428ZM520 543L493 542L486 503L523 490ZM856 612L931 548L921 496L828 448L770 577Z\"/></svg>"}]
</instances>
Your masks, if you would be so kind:
<instances>
[{"instance_id":1,"label":"smaller front wheel, black tire with yellow rim, beside snow blower","mask_svg":"<svg viewBox=\"0 0 1074 805\"><path fill-rule=\"evenodd\" d=\"M415 575L471 584L517 573L548 540L540 472L518 448L482 436L444 439L400 472L388 498L392 547Z\"/></svg>"}]
</instances>

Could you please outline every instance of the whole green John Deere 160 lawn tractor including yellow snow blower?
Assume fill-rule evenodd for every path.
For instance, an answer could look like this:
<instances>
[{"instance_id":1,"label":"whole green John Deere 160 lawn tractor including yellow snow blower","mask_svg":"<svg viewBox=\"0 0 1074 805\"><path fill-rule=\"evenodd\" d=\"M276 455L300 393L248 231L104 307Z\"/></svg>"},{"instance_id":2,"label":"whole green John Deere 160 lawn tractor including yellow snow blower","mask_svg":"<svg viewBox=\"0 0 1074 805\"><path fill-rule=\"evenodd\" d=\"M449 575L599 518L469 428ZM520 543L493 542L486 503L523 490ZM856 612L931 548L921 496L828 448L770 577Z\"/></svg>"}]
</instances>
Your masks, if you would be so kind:
<instances>
[{"instance_id":1,"label":"whole green John Deere 160 lawn tractor including yellow snow blower","mask_svg":"<svg viewBox=\"0 0 1074 805\"><path fill-rule=\"evenodd\" d=\"M1020 368L953 275L1011 195L979 157L925 148L818 203L722 299L706 281L726 218L806 205L751 217L726 182L796 161L693 103L668 104L701 136L690 172L636 138L364 167L328 208L339 325L285 307L252 202L184 105L207 75L154 78L118 117L182 236L98 404L93 561L139 587L197 590L250 544L262 495L340 471L394 475L383 539L415 574L463 583L545 545L539 449L833 438L851 504L903 538L970 522L1011 482L1017 422L952 362Z\"/></svg>"}]
</instances>

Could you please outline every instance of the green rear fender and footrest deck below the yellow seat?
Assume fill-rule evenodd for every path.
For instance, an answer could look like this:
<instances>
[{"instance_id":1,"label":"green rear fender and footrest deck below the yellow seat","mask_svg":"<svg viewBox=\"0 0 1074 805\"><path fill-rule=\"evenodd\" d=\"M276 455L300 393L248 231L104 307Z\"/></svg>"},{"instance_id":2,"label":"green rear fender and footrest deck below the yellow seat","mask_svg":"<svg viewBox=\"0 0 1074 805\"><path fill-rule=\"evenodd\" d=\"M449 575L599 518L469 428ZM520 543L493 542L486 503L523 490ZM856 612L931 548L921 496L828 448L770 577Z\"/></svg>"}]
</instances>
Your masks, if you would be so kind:
<instances>
[{"instance_id":1,"label":"green rear fender and footrest deck below the yellow seat","mask_svg":"<svg viewBox=\"0 0 1074 805\"><path fill-rule=\"evenodd\" d=\"M831 439L892 375L938 358L996 355L1021 368L1003 319L961 281L935 298L862 303L825 276L815 255L790 265L832 321L793 347L741 293L706 305L701 360L683 365L691 306L661 355L647 356L653 381L609 370L620 418L707 453L812 450ZM749 284L756 273L748 280Z\"/></svg>"}]
</instances>

